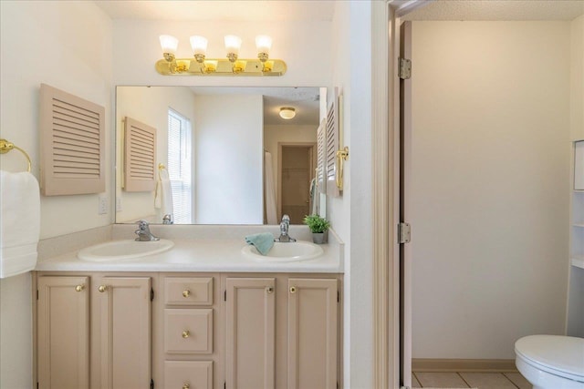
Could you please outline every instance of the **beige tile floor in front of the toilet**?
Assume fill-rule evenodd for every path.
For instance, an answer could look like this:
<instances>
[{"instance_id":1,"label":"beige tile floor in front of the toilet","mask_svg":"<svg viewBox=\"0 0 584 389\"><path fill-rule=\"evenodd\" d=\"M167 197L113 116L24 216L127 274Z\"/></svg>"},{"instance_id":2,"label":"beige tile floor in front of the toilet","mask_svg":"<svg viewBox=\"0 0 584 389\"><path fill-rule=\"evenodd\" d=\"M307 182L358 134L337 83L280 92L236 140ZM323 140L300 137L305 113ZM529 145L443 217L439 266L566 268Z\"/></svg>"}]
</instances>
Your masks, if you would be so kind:
<instances>
[{"instance_id":1,"label":"beige tile floor in front of the toilet","mask_svg":"<svg viewBox=\"0 0 584 389\"><path fill-rule=\"evenodd\" d=\"M412 374L412 387L532 389L519 373L422 373Z\"/></svg>"}]
</instances>

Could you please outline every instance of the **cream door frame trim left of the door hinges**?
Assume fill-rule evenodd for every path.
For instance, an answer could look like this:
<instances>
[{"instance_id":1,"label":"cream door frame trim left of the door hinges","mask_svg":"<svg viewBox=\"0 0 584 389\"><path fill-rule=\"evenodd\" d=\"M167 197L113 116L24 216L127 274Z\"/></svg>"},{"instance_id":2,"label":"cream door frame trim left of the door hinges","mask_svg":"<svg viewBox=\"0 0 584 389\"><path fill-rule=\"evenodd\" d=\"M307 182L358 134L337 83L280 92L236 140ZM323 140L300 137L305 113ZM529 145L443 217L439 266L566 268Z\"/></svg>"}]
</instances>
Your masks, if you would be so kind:
<instances>
[{"instance_id":1,"label":"cream door frame trim left of the door hinges","mask_svg":"<svg viewBox=\"0 0 584 389\"><path fill-rule=\"evenodd\" d=\"M401 18L431 1L371 2L373 212L373 384L400 388L400 53Z\"/></svg>"}]
</instances>

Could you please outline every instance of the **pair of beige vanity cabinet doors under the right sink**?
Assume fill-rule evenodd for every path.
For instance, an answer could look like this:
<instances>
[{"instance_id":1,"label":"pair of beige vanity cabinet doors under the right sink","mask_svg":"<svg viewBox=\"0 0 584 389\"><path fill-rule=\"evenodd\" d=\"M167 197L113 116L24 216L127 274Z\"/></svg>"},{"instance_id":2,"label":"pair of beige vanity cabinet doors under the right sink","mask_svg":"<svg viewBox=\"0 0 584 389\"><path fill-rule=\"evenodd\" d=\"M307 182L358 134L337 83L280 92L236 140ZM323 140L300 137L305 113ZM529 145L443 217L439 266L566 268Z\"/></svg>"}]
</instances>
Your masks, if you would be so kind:
<instances>
[{"instance_id":1,"label":"pair of beige vanity cabinet doors under the right sink","mask_svg":"<svg viewBox=\"0 0 584 389\"><path fill-rule=\"evenodd\" d=\"M228 276L224 284L226 388L337 388L338 278Z\"/></svg>"}]
</instances>

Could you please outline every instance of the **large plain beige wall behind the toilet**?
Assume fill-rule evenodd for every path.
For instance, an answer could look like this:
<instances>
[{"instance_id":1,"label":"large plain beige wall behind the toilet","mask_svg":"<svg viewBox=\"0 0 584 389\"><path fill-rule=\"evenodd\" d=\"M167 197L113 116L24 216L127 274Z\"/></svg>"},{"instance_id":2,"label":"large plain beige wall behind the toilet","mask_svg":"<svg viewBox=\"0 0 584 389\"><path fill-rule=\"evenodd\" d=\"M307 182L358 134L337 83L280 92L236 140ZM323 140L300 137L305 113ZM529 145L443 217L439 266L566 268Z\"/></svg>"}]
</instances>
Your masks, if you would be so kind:
<instances>
[{"instance_id":1,"label":"large plain beige wall behind the toilet","mask_svg":"<svg viewBox=\"0 0 584 389\"><path fill-rule=\"evenodd\" d=\"M564 332L569 22L414 22L414 358Z\"/></svg>"}]
</instances>

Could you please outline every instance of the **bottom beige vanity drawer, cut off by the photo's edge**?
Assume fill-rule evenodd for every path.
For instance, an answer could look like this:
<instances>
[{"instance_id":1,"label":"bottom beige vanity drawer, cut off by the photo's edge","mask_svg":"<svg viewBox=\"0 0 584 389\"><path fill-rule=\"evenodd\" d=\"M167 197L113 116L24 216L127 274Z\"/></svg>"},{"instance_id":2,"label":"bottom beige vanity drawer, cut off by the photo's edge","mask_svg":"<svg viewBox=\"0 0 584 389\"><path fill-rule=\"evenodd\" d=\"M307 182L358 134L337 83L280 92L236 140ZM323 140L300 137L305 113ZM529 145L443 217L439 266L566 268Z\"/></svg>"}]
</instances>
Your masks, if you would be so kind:
<instances>
[{"instance_id":1,"label":"bottom beige vanity drawer, cut off by the photo's edge","mask_svg":"<svg viewBox=\"0 0 584 389\"><path fill-rule=\"evenodd\" d=\"M165 389L212 389L212 361L165 361Z\"/></svg>"}]
</instances>

